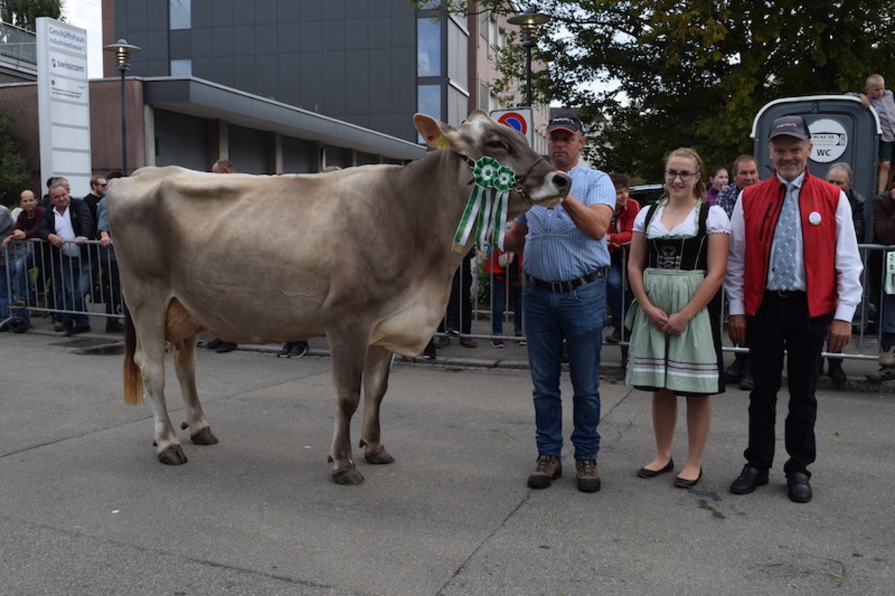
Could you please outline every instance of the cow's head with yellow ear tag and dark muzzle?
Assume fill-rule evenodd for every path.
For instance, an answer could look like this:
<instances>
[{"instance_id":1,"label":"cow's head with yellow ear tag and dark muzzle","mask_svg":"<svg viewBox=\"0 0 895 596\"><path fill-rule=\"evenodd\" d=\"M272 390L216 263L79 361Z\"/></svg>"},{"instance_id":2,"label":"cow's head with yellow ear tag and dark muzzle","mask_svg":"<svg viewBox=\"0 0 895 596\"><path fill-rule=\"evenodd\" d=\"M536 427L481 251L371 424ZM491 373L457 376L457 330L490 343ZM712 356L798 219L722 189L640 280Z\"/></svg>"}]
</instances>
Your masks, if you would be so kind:
<instances>
[{"instance_id":1,"label":"cow's head with yellow ear tag and dark muzzle","mask_svg":"<svg viewBox=\"0 0 895 596\"><path fill-rule=\"evenodd\" d=\"M516 173L514 192L530 204L552 207L564 199L572 179L538 155L524 136L475 110L459 126L439 122L428 115L413 116L413 124L430 147L452 149L472 165L488 156Z\"/></svg>"}]
</instances>

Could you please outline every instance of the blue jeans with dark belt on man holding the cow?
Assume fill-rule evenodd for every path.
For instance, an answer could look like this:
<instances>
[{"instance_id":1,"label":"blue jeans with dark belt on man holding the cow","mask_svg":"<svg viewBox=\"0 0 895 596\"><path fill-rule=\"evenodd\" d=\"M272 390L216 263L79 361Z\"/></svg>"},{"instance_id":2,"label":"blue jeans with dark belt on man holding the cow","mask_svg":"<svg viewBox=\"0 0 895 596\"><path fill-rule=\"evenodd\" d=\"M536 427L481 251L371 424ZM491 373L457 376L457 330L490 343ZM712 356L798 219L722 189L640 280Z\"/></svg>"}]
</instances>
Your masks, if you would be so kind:
<instances>
[{"instance_id":1,"label":"blue jeans with dark belt on man holding the cow","mask_svg":"<svg viewBox=\"0 0 895 596\"><path fill-rule=\"evenodd\" d=\"M575 459L595 459L600 451L600 348L606 323L604 278L573 292L553 293L524 285L524 327L532 370L538 454L562 454L562 341L566 340L575 430Z\"/></svg>"}]
</instances>

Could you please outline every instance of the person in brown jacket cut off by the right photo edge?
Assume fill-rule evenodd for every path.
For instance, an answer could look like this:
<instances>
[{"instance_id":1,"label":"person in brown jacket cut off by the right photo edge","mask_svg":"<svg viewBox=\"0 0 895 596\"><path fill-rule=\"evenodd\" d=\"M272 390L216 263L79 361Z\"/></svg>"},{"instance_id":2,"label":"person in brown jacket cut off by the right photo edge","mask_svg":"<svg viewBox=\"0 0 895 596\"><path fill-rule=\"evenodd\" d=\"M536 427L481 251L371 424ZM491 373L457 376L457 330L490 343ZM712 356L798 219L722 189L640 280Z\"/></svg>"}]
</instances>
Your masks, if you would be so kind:
<instances>
[{"instance_id":1,"label":"person in brown jacket cut off by the right photo edge","mask_svg":"<svg viewBox=\"0 0 895 596\"><path fill-rule=\"evenodd\" d=\"M874 243L895 247L895 188L874 198ZM895 250L872 251L870 257L867 267L873 294L882 293L882 336L880 370L868 374L867 379L879 383L895 379Z\"/></svg>"}]
</instances>

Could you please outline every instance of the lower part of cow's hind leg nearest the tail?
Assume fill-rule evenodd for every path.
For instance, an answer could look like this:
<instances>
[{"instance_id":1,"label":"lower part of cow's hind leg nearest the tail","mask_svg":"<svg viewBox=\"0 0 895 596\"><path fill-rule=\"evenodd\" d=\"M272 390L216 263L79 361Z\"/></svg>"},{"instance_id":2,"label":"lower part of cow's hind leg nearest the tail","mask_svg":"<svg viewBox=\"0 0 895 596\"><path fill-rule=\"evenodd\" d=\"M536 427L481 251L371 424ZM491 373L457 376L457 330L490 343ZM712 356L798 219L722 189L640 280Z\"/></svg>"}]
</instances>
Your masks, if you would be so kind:
<instances>
[{"instance_id":1,"label":"lower part of cow's hind leg nearest the tail","mask_svg":"<svg viewBox=\"0 0 895 596\"><path fill-rule=\"evenodd\" d=\"M152 405L158 461L167 465L186 464L183 447L177 440L174 425L165 404L165 347L164 343L147 346L141 342L134 353L134 362L140 367L143 387Z\"/></svg>"}]
</instances>

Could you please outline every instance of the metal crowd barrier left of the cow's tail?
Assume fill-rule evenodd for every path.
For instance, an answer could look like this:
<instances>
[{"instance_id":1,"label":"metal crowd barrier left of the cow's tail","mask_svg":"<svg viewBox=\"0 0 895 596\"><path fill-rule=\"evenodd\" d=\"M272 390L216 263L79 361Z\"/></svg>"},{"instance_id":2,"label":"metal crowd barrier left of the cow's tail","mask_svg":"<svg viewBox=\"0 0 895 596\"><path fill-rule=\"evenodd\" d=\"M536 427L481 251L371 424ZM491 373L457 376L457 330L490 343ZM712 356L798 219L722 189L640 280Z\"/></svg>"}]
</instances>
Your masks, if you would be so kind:
<instances>
[{"instance_id":1,"label":"metal crowd barrier left of the cow's tail","mask_svg":"<svg viewBox=\"0 0 895 596\"><path fill-rule=\"evenodd\" d=\"M115 251L96 240L73 247L64 255L43 240L14 241L7 246L4 265L5 294L0 294L0 320L28 311L30 316L124 319L121 283ZM75 322L77 324L77 322Z\"/></svg>"}]
</instances>

